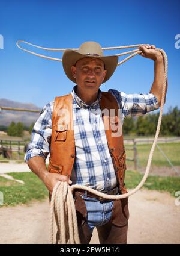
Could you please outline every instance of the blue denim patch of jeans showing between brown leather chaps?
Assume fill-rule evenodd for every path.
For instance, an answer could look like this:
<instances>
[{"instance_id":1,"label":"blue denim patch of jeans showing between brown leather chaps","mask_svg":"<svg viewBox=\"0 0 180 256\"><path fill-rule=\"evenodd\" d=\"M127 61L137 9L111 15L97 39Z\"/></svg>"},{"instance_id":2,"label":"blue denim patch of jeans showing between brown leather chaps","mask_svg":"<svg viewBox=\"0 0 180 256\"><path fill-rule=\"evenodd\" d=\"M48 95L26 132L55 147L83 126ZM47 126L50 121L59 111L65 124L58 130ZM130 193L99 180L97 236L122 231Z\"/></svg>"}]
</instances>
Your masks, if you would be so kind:
<instances>
[{"instance_id":1,"label":"blue denim patch of jeans showing between brown leather chaps","mask_svg":"<svg viewBox=\"0 0 180 256\"><path fill-rule=\"evenodd\" d=\"M112 217L113 201L99 201L97 198L91 198L85 195L82 196L86 204L87 220L91 232L95 226L103 226Z\"/></svg>"}]
</instances>

